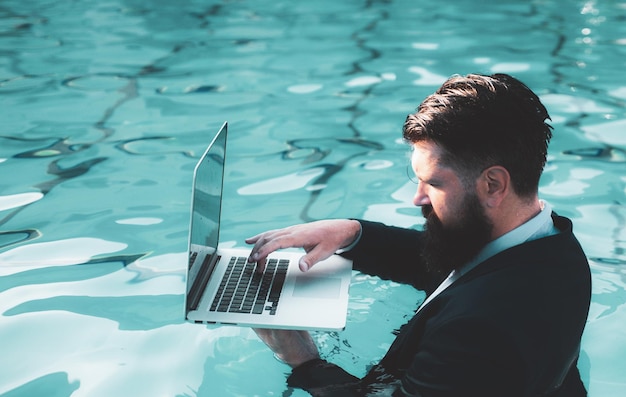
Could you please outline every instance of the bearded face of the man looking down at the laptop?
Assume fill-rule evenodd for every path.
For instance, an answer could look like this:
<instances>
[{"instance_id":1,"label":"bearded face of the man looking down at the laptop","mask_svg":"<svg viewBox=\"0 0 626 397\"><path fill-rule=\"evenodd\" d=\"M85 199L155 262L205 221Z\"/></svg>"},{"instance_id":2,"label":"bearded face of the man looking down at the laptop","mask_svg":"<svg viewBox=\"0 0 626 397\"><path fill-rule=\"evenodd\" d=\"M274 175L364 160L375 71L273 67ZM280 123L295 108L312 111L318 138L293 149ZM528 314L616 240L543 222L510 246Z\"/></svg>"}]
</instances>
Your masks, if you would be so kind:
<instances>
[{"instance_id":1,"label":"bearded face of the man looking down at the laptop","mask_svg":"<svg viewBox=\"0 0 626 397\"><path fill-rule=\"evenodd\" d=\"M422 257L444 274L471 260L491 241L493 225L472 187L439 163L441 149L425 141L413 145L411 163L419 180L413 203L426 218Z\"/></svg>"}]
</instances>

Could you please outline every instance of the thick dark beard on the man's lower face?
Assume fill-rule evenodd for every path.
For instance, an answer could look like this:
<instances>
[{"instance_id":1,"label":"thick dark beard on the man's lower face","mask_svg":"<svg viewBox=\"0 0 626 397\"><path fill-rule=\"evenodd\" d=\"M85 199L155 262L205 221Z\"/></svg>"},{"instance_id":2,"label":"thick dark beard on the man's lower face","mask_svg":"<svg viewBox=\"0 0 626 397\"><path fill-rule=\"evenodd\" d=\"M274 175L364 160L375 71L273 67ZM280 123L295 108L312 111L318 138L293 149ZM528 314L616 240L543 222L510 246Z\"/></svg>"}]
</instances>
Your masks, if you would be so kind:
<instances>
[{"instance_id":1,"label":"thick dark beard on the man's lower face","mask_svg":"<svg viewBox=\"0 0 626 397\"><path fill-rule=\"evenodd\" d=\"M448 275L473 259L491 240L493 224L475 194L467 195L451 225L443 225L430 205L422 206L422 214L426 224L421 255L429 271Z\"/></svg>"}]
</instances>

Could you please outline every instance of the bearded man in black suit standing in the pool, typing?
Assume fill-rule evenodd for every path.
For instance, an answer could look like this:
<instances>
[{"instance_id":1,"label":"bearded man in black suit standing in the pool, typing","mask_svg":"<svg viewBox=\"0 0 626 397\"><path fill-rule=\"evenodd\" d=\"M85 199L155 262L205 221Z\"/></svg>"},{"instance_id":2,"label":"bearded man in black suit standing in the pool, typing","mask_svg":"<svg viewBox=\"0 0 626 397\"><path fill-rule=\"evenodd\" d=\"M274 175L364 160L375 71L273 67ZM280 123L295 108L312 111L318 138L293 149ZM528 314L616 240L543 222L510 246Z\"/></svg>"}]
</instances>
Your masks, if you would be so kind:
<instances>
[{"instance_id":1,"label":"bearded man in black suit standing in the pool, typing","mask_svg":"<svg viewBox=\"0 0 626 397\"><path fill-rule=\"evenodd\" d=\"M539 200L551 127L504 74L455 76L407 117L423 231L325 220L269 231L302 247L302 271L338 250L362 272L425 290L426 301L363 378L322 360L304 331L256 330L315 396L584 396L576 362L590 272L571 222Z\"/></svg>"}]
</instances>

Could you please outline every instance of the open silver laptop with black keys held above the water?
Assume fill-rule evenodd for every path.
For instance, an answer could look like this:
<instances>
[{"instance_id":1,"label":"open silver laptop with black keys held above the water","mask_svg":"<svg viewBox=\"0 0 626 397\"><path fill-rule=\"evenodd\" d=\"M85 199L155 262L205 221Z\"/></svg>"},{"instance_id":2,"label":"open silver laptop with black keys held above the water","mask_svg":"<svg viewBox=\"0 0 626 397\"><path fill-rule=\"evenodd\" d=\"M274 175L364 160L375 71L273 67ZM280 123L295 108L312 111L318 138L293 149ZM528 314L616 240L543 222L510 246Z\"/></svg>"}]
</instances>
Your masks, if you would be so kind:
<instances>
[{"instance_id":1,"label":"open silver laptop with black keys held above the water","mask_svg":"<svg viewBox=\"0 0 626 397\"><path fill-rule=\"evenodd\" d=\"M345 328L352 262L338 255L308 272L303 252L278 251L264 273L247 262L250 249L220 247L228 123L194 169L185 319L202 324L337 331Z\"/></svg>"}]
</instances>

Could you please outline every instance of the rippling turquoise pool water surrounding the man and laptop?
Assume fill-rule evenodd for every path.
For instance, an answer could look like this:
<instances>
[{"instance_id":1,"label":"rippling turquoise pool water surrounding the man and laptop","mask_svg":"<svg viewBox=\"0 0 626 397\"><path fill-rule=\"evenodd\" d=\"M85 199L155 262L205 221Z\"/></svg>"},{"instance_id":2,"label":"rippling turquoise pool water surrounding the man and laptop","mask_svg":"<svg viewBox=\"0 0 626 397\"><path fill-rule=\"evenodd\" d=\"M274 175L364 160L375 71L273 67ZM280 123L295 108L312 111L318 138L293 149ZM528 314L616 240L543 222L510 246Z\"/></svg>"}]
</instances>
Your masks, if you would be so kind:
<instances>
[{"instance_id":1,"label":"rippling turquoise pool water surrounding the man and laptop","mask_svg":"<svg viewBox=\"0 0 626 397\"><path fill-rule=\"evenodd\" d=\"M0 395L302 396L245 328L182 320L191 173L229 121L223 236L420 224L404 117L506 72L555 127L541 195L593 272L580 368L626 394L626 3L0 4ZM532 286L529 286L532 293ZM322 353L363 375L423 299L355 275Z\"/></svg>"}]
</instances>

